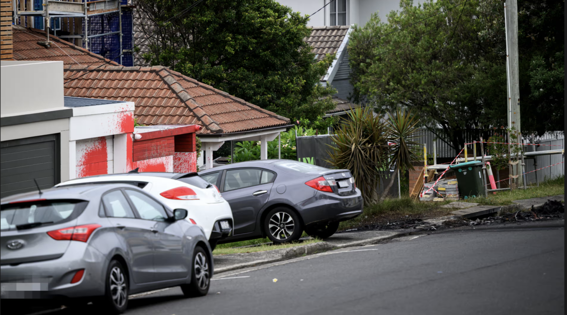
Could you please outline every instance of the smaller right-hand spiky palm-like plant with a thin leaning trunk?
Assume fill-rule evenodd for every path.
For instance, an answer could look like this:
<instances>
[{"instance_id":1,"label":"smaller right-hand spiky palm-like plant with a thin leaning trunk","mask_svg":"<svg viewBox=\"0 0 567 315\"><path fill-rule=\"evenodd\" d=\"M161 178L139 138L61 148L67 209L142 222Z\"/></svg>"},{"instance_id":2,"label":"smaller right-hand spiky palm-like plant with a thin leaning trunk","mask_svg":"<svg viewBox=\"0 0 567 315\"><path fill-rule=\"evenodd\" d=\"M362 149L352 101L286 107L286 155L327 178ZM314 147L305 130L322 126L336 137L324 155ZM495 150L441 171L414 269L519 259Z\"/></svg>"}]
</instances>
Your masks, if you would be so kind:
<instances>
[{"instance_id":1,"label":"smaller right-hand spiky palm-like plant with a thin leaning trunk","mask_svg":"<svg viewBox=\"0 0 567 315\"><path fill-rule=\"evenodd\" d=\"M420 156L418 155L419 143L414 140L418 138L418 124L419 120L413 116L411 110L398 109L395 114L390 113L390 119L387 122L388 141L393 142L390 146L390 165L395 165L393 176L384 188L380 200L382 200L392 188L393 183L396 181L398 171L401 169L413 169L413 161L417 161ZM391 166L390 166L391 167Z\"/></svg>"}]
</instances>

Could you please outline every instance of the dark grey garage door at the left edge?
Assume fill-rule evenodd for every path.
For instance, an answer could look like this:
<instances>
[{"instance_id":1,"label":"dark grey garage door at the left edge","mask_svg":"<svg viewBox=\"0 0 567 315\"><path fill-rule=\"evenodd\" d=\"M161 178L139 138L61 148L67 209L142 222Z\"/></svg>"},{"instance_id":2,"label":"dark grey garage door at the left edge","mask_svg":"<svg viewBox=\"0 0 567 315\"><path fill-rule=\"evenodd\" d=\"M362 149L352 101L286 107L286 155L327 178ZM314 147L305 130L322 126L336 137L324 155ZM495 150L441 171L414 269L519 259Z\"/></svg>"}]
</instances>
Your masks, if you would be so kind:
<instances>
[{"instance_id":1,"label":"dark grey garage door at the left edge","mask_svg":"<svg viewBox=\"0 0 567 315\"><path fill-rule=\"evenodd\" d=\"M0 197L58 184L59 134L0 143Z\"/></svg>"}]
</instances>

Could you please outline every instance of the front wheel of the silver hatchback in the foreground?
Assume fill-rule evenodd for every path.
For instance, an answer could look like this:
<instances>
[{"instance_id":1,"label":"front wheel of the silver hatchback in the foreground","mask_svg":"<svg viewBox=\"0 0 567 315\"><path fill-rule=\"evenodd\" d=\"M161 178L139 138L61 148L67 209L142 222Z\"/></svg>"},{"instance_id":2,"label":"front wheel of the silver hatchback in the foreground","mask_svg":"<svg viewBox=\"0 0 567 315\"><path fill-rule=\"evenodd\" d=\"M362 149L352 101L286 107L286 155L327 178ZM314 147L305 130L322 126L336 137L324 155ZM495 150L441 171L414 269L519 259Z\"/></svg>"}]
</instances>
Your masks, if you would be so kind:
<instances>
[{"instance_id":1,"label":"front wheel of the silver hatchback in the foreground","mask_svg":"<svg viewBox=\"0 0 567 315\"><path fill-rule=\"evenodd\" d=\"M191 260L191 283L181 285L185 297L207 295L211 283L209 262L207 251L201 246L196 246Z\"/></svg>"}]
</instances>

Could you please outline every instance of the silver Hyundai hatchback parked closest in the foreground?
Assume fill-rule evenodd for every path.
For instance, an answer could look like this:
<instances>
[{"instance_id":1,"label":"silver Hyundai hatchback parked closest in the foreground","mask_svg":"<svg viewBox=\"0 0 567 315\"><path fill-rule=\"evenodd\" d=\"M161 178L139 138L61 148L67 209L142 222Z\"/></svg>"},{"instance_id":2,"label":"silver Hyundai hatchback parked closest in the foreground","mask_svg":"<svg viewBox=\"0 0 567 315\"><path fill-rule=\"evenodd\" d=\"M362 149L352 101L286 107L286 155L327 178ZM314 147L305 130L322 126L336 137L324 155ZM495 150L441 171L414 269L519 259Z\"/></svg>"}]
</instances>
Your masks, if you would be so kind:
<instances>
[{"instance_id":1,"label":"silver Hyundai hatchback parked closest in the foreground","mask_svg":"<svg viewBox=\"0 0 567 315\"><path fill-rule=\"evenodd\" d=\"M187 210L171 211L133 185L53 188L0 207L3 301L92 301L116 314L133 293L209 291L213 261L201 228L183 220Z\"/></svg>"}]
</instances>

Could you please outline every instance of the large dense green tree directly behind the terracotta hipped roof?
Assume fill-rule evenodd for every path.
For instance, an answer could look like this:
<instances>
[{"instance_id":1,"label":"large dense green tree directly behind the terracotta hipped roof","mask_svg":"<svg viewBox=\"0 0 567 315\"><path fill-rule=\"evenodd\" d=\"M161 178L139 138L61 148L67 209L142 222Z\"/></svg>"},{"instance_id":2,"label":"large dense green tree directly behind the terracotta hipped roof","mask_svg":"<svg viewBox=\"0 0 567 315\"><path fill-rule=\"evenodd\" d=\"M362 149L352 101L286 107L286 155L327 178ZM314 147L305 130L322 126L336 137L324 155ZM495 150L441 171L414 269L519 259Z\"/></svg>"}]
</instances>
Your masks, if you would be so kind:
<instances>
[{"instance_id":1,"label":"large dense green tree directly behind the terracotta hipped roof","mask_svg":"<svg viewBox=\"0 0 567 315\"><path fill-rule=\"evenodd\" d=\"M319 79L335 56L314 62L305 16L273 0L138 0L148 50L143 58L261 108L316 120L335 107ZM172 19L168 22L168 20Z\"/></svg>"}]
</instances>

